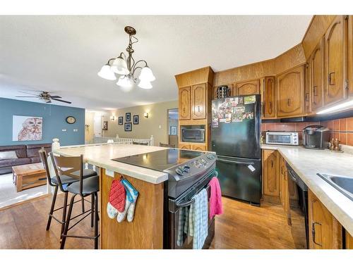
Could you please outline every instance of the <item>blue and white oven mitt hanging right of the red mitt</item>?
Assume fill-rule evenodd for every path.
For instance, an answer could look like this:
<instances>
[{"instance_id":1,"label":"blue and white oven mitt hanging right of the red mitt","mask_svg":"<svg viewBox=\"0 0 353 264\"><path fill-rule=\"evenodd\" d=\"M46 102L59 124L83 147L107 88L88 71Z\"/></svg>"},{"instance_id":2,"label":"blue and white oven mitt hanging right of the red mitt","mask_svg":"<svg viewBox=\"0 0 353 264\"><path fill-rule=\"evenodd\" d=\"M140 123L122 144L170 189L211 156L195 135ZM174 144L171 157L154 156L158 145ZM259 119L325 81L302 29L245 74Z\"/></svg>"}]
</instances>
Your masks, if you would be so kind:
<instances>
[{"instance_id":1,"label":"blue and white oven mitt hanging right of the red mitt","mask_svg":"<svg viewBox=\"0 0 353 264\"><path fill-rule=\"evenodd\" d=\"M130 182L128 180L122 180L122 184L124 184L124 187L126 189L126 202L125 202L125 210L124 212L119 212L118 216L116 217L116 220L118 222L122 222L125 220L127 216L128 222L132 222L133 220L133 214L135 213L135 206L136 206L136 200L138 197L138 191L133 188Z\"/></svg>"}]
</instances>

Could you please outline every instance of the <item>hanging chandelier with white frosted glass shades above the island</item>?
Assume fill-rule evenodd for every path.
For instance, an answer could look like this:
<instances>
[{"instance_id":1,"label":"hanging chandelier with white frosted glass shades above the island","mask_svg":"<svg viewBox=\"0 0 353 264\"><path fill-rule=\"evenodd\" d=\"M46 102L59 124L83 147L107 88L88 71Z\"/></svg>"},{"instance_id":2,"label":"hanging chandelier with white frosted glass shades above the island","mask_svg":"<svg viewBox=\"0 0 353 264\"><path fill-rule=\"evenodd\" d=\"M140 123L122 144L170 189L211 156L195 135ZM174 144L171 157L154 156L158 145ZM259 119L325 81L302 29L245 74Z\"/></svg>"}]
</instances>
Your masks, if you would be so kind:
<instances>
[{"instance_id":1,"label":"hanging chandelier with white frosted glass shades above the island","mask_svg":"<svg viewBox=\"0 0 353 264\"><path fill-rule=\"evenodd\" d=\"M128 46L126 51L128 56L121 52L116 58L110 58L107 64L103 65L98 73L98 76L107 80L116 80L116 84L129 91L133 88L133 84L138 82L138 87L142 89L152 89L151 82L155 80L155 76L152 70L148 67L148 64L144 60L135 61L133 59L133 44L138 42L138 39L134 37L136 30L133 27L125 27L125 32L128 34ZM139 70L140 75L136 77L136 70ZM117 74L118 76L116 77Z\"/></svg>"}]
</instances>

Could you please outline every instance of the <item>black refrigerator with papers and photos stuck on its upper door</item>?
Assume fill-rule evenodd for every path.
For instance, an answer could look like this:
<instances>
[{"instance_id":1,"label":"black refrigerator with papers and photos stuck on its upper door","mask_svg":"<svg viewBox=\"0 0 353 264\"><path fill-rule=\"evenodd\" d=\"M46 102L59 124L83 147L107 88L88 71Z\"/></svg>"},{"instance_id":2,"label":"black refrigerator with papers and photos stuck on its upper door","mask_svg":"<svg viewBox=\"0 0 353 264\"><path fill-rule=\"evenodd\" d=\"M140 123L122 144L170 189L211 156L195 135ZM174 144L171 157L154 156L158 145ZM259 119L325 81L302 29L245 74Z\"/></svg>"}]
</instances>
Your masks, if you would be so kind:
<instances>
[{"instance_id":1,"label":"black refrigerator with papers and photos stuck on its upper door","mask_svg":"<svg viewBox=\"0 0 353 264\"><path fill-rule=\"evenodd\" d=\"M260 137L259 94L212 101L211 144L223 196L260 204Z\"/></svg>"}]
</instances>

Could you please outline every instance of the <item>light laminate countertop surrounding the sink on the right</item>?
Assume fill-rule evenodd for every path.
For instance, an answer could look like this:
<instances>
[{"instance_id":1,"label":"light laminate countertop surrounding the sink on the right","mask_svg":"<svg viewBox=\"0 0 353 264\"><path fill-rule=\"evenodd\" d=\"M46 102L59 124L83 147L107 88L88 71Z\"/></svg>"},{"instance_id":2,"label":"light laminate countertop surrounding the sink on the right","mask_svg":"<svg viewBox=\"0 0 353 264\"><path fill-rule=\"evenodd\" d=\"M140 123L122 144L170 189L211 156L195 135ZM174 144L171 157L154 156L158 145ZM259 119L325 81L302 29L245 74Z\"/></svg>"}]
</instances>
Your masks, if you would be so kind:
<instances>
[{"instance_id":1,"label":"light laminate countertop surrounding the sink on the right","mask_svg":"<svg viewBox=\"0 0 353 264\"><path fill-rule=\"evenodd\" d=\"M353 234L353 201L325 182L316 173L353 177L353 154L350 151L335 153L303 146L261 145L261 149L280 152L301 180L313 191L343 227Z\"/></svg>"}]
</instances>

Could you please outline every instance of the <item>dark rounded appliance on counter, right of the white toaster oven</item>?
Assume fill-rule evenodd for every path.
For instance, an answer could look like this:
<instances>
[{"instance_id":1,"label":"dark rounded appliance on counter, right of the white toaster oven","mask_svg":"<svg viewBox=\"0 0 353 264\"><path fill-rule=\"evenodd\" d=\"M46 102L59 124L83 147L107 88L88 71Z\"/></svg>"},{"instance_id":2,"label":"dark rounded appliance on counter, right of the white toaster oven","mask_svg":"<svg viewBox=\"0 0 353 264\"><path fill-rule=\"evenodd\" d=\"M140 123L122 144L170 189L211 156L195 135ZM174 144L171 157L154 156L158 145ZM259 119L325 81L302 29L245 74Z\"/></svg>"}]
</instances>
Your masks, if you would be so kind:
<instances>
[{"instance_id":1,"label":"dark rounded appliance on counter, right of the white toaster oven","mask_svg":"<svg viewBox=\"0 0 353 264\"><path fill-rule=\"evenodd\" d=\"M303 130L303 146L306 149L327 149L330 130L322 125L309 125Z\"/></svg>"}]
</instances>

